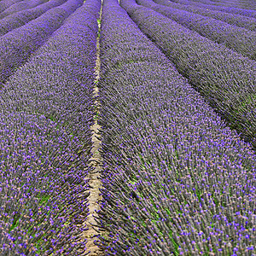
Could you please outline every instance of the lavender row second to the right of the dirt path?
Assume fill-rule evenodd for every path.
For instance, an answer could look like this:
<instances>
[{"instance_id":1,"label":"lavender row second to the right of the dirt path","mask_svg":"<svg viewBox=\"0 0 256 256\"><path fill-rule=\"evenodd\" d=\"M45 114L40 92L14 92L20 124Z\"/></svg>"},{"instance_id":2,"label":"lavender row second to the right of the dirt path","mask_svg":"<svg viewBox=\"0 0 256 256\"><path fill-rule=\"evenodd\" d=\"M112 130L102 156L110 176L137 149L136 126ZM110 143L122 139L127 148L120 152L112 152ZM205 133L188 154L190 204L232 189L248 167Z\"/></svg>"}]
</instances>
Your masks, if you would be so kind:
<instances>
[{"instance_id":1,"label":"lavender row second to the right of the dirt path","mask_svg":"<svg viewBox=\"0 0 256 256\"><path fill-rule=\"evenodd\" d=\"M213 43L154 10L121 0L139 28L172 60L195 86L256 148L256 64L222 44ZM256 52L255 52L256 53Z\"/></svg>"}]
</instances>

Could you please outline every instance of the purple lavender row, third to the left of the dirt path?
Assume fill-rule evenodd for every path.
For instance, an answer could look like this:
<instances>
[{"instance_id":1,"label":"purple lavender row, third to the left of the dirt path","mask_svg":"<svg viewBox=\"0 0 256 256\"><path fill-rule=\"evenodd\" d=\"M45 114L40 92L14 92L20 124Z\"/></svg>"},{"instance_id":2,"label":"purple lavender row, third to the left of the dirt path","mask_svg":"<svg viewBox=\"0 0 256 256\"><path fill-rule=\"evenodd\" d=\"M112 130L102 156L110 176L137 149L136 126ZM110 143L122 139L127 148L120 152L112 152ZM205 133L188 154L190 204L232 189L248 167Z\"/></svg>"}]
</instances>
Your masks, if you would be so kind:
<instances>
[{"instance_id":1,"label":"purple lavender row, third to the left of the dirt path","mask_svg":"<svg viewBox=\"0 0 256 256\"><path fill-rule=\"evenodd\" d=\"M50 0L48 3L44 3L33 9L22 10L14 15L5 17L3 20L0 20L0 37L19 26L25 25L31 20L37 19L49 9L57 7L66 1L67 0Z\"/></svg>"}]
</instances>

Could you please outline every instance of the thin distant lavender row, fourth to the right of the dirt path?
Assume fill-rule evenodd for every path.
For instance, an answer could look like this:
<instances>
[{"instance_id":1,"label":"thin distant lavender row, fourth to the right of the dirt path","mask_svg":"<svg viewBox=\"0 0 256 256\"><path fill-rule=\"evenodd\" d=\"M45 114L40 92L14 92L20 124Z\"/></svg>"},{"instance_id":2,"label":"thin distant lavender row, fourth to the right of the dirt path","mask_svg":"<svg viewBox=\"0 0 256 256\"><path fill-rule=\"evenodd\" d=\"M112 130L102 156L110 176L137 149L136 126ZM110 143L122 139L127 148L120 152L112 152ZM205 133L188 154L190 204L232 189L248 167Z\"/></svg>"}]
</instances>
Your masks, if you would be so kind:
<instances>
[{"instance_id":1,"label":"thin distant lavender row, fourth to the right of the dirt path","mask_svg":"<svg viewBox=\"0 0 256 256\"><path fill-rule=\"evenodd\" d=\"M188 12L195 13L197 15L204 15L204 16L212 17L217 20L223 20L224 22L227 22L231 25L241 26L248 30L256 31L256 19L253 19L250 17L235 15L235 14L227 14L221 11L209 10L209 9L200 8L197 6L189 6L185 4L172 3L166 0L154 0L154 2L163 4L172 8L176 8L176 9L183 9Z\"/></svg>"}]
</instances>

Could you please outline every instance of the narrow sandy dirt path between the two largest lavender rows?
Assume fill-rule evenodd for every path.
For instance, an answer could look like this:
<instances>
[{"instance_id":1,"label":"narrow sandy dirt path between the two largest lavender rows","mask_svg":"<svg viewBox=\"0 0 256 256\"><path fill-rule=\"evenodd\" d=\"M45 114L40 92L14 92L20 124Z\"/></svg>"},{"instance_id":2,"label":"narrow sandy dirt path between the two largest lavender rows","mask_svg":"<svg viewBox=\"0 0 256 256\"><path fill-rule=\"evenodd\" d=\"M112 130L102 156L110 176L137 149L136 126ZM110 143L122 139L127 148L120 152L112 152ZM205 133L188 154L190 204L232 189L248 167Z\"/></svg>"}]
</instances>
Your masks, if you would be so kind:
<instances>
[{"instance_id":1,"label":"narrow sandy dirt path between the two largest lavender rows","mask_svg":"<svg viewBox=\"0 0 256 256\"><path fill-rule=\"evenodd\" d=\"M102 20L102 9L101 9L101 17L100 17L100 20ZM98 20L98 25L99 25L99 31L100 31L100 27L101 27L101 22L100 20ZM100 61L100 38L98 37L97 38L97 43L96 43L96 46L97 46L97 60L96 60L96 87L95 87L95 90L94 90L94 95L95 96L98 96L98 87L97 87L97 82L100 78L100 67L101 67L101 61ZM98 100L96 100L95 102L95 106L96 106L96 112L99 113L100 111L100 102ZM86 225L87 227L89 228L89 230L87 231L84 231L84 234L83 234L83 238L86 238L87 239L87 244L86 244L86 247L87 247L87 250L86 252L89 252L89 256L96 256L96 255L104 255L99 247L97 247L95 244L94 244L94 241L95 241L95 235L99 235L99 231L96 231L92 226L94 224L96 224L96 221L94 219L94 216L96 216L96 212L95 211L99 211L100 210L100 207L99 207L99 204L98 204L98 201L100 201L102 199L102 197L100 196L100 190L99 188L101 187L102 185L102 182L101 180L99 179L100 177L100 170L101 170L101 166L100 166L100 163L102 163L102 156L101 154L99 153L99 148L101 148L102 144L101 144L101 141L97 138L97 137L100 137L98 135L98 129L100 128L101 126L98 125L97 123L97 114L96 114L96 117L95 117L95 123L94 125L92 125L90 127L90 130L92 131L92 143L93 143L93 148L92 148L92 162L91 162L91 165L95 167L95 170L93 172L90 172L89 173L89 178L90 178L90 196L88 198L88 203L89 203L89 215L87 217L87 220L86 220Z\"/></svg>"}]
</instances>

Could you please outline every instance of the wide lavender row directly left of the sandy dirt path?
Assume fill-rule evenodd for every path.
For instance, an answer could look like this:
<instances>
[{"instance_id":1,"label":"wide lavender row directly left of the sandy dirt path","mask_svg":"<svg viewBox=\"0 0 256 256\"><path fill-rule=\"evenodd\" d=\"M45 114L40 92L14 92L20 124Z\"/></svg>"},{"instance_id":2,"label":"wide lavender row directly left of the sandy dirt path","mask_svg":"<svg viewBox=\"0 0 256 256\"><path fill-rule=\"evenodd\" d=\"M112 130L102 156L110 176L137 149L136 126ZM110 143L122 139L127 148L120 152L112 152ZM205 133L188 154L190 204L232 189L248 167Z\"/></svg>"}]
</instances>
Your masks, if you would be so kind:
<instances>
[{"instance_id":1,"label":"wide lavender row directly left of the sandy dirt path","mask_svg":"<svg viewBox=\"0 0 256 256\"><path fill-rule=\"evenodd\" d=\"M0 91L0 255L84 249L100 7L87 0Z\"/></svg>"}]
</instances>

